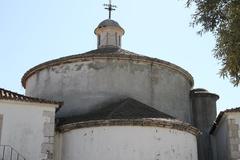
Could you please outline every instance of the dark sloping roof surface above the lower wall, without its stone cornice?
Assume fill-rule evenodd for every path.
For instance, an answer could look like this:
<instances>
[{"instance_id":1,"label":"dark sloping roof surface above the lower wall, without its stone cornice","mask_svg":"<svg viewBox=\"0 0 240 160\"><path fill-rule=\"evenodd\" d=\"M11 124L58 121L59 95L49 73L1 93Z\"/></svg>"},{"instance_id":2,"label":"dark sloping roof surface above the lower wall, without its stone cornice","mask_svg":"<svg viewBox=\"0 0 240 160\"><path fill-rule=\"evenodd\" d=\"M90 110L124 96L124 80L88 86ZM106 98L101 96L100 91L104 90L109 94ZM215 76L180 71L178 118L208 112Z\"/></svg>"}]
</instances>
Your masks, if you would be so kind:
<instances>
[{"instance_id":1,"label":"dark sloping roof surface above the lower wall, without its stone cornice","mask_svg":"<svg viewBox=\"0 0 240 160\"><path fill-rule=\"evenodd\" d=\"M74 117L59 118L58 126L76 122L91 120L110 120L110 119L142 119L142 118L164 118L175 119L174 117L160 112L135 99L126 98L113 102L96 111Z\"/></svg>"}]
</instances>

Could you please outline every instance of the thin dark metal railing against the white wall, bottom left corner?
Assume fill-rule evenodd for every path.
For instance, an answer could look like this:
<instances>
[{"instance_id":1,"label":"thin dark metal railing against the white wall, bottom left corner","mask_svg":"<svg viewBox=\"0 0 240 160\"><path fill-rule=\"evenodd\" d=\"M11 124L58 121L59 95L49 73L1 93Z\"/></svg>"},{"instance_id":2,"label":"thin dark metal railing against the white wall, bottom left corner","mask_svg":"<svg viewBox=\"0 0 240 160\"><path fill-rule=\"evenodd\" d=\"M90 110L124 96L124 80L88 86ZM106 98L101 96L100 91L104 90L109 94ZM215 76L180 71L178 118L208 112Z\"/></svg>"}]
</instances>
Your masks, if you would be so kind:
<instances>
[{"instance_id":1,"label":"thin dark metal railing against the white wall, bottom left corner","mask_svg":"<svg viewBox=\"0 0 240 160\"><path fill-rule=\"evenodd\" d=\"M0 145L0 160L26 160L10 145Z\"/></svg>"}]
</instances>

